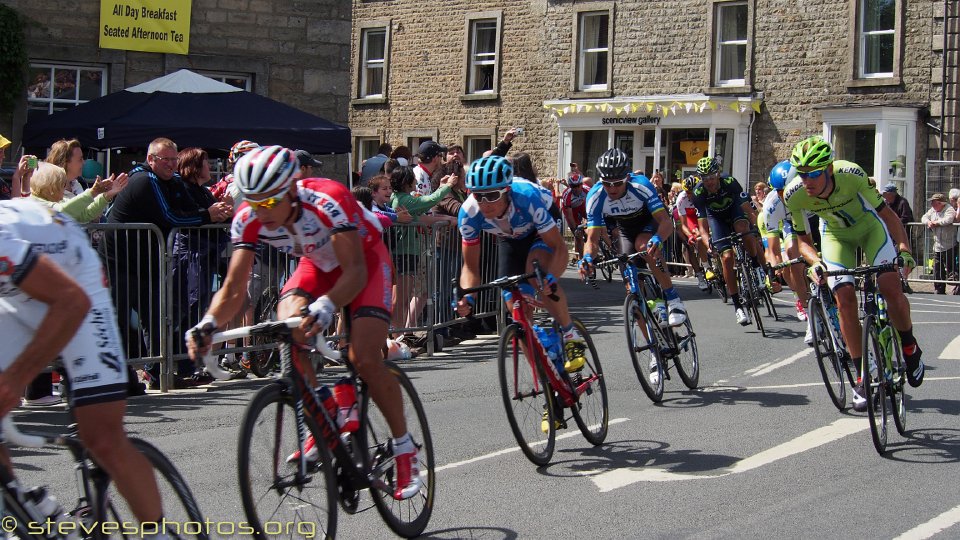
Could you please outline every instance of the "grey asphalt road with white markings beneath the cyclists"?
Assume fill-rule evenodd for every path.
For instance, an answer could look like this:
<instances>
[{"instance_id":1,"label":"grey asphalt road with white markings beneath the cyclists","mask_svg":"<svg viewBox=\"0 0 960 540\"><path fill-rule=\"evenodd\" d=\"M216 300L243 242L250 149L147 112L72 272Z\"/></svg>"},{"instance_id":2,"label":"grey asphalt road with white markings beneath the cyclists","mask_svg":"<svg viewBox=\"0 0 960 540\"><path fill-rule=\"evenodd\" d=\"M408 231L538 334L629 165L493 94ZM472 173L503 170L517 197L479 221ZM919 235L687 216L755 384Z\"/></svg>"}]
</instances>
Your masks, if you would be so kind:
<instances>
[{"instance_id":1,"label":"grey asphalt road with white markings beneath the cyclists","mask_svg":"<svg viewBox=\"0 0 960 540\"><path fill-rule=\"evenodd\" d=\"M654 405L637 382L622 328L623 289L563 280L589 328L610 394L606 442L560 432L550 465L519 452L500 401L496 336L405 363L425 402L436 451L431 538L957 538L960 537L960 297L916 294L915 333L927 364L909 390L909 436L892 427L873 448L865 415L829 401L802 342L789 293L770 336L738 326L733 309L678 280L697 332L701 388L667 381ZM215 521L242 521L236 445L262 380L129 402L132 433L160 447ZM62 426L62 408L23 411L27 427ZM14 452L25 484L68 500L73 472L52 450ZM373 509L341 513L342 538L390 532Z\"/></svg>"}]
</instances>

